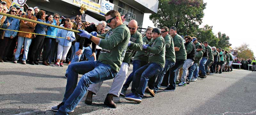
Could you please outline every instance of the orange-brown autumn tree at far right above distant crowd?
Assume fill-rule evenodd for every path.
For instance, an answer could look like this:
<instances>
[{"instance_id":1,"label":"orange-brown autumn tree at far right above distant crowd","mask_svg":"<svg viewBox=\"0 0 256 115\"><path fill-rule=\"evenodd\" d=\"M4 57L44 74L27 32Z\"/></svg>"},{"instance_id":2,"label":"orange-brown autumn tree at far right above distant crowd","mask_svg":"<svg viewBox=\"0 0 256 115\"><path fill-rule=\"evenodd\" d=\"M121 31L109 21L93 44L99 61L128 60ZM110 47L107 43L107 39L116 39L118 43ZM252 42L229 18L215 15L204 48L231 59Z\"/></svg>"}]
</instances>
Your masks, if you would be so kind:
<instances>
[{"instance_id":1,"label":"orange-brown autumn tree at far right above distant crowd","mask_svg":"<svg viewBox=\"0 0 256 115\"><path fill-rule=\"evenodd\" d=\"M243 43L241 46L238 46L235 49L238 50L237 57L247 59L254 56L253 51L249 48L249 44Z\"/></svg>"}]
</instances>

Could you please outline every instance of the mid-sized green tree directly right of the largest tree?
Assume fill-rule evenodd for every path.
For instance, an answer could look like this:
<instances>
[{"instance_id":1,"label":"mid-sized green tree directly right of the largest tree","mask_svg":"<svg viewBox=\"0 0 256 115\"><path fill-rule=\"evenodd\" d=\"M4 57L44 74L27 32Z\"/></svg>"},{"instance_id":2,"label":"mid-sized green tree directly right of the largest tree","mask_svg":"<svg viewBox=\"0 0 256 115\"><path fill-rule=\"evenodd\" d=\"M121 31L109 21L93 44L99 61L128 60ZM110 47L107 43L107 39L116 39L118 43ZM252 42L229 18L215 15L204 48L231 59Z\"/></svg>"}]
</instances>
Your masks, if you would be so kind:
<instances>
[{"instance_id":1,"label":"mid-sized green tree directly right of the largest tree","mask_svg":"<svg viewBox=\"0 0 256 115\"><path fill-rule=\"evenodd\" d=\"M219 39L212 32L212 26L205 25L197 30L196 38L201 42L207 41L210 46L218 47Z\"/></svg>"}]
</instances>

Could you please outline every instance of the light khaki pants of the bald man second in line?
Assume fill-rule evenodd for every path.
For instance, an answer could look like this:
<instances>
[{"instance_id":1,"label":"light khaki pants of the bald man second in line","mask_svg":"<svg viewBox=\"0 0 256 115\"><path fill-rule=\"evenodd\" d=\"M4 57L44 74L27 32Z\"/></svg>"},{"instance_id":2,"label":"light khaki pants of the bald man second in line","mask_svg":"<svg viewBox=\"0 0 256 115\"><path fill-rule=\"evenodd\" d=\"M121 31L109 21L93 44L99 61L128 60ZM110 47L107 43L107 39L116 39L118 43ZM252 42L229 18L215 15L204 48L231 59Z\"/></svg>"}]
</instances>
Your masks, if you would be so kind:
<instances>
[{"instance_id":1,"label":"light khaki pants of the bald man second in line","mask_svg":"<svg viewBox=\"0 0 256 115\"><path fill-rule=\"evenodd\" d=\"M128 67L129 67L128 63L125 63L125 62L122 63L120 71L117 73L116 77L114 78L112 86L108 93L116 96L120 95L124 82L127 78ZM102 83L103 81L96 84L91 84L88 90L97 94L97 92L100 90Z\"/></svg>"}]
</instances>

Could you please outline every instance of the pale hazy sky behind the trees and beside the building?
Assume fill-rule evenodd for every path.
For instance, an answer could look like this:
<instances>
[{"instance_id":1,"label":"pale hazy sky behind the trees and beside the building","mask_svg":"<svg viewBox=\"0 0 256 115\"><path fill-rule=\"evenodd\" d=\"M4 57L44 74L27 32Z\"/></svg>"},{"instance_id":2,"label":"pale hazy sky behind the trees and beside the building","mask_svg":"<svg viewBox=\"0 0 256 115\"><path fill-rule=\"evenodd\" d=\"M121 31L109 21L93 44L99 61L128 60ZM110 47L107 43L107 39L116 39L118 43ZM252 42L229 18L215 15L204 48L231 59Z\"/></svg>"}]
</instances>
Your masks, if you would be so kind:
<instances>
[{"instance_id":1,"label":"pale hazy sky behind the trees and beside the building","mask_svg":"<svg viewBox=\"0 0 256 115\"><path fill-rule=\"evenodd\" d=\"M204 9L203 23L208 24L214 34L225 33L229 36L231 47L235 48L242 43L249 44L249 48L256 56L256 0L204 0L207 3ZM155 27L149 19L148 13L144 14L143 28ZM209 44L210 45L210 44Z\"/></svg>"}]
</instances>

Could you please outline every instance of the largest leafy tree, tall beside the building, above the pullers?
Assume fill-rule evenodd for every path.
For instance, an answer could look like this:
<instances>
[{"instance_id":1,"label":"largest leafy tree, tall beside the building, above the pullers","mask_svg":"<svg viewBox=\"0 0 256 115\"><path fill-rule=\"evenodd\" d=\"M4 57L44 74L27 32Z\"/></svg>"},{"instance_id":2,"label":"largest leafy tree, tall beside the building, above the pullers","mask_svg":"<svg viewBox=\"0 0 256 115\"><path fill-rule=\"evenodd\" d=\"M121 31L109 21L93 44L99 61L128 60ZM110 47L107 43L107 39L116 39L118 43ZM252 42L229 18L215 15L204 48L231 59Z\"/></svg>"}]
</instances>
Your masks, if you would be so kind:
<instances>
[{"instance_id":1,"label":"largest leafy tree, tall beside the building, above the pullers","mask_svg":"<svg viewBox=\"0 0 256 115\"><path fill-rule=\"evenodd\" d=\"M195 36L205 8L203 0L159 0L157 13L149 19L156 22L156 27L174 26L180 35Z\"/></svg>"}]
</instances>

